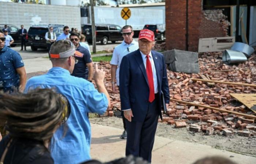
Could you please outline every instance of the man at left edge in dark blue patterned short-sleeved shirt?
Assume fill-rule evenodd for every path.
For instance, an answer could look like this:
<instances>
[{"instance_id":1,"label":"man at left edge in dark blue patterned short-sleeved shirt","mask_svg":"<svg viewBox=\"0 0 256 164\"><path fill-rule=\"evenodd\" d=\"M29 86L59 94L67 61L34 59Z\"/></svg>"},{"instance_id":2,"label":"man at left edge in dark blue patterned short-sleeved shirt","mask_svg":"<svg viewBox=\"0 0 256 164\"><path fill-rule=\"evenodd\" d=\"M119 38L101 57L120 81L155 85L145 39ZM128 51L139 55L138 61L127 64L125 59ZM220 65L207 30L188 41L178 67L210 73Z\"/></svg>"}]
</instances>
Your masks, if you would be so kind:
<instances>
[{"instance_id":1,"label":"man at left edge in dark blue patterned short-sleeved shirt","mask_svg":"<svg viewBox=\"0 0 256 164\"><path fill-rule=\"evenodd\" d=\"M20 54L8 48L0 33L0 90L13 91L16 87L23 92L26 85L26 70Z\"/></svg>"}]
</instances>

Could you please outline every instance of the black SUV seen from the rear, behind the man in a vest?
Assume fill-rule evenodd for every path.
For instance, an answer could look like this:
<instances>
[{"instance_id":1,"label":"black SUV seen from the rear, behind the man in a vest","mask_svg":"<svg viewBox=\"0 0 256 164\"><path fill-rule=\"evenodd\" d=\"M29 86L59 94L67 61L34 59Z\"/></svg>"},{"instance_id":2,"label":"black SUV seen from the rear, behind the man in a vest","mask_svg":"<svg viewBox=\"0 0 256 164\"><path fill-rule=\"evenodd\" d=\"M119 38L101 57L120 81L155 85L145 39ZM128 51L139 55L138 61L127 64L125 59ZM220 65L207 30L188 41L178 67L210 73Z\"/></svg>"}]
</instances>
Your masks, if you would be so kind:
<instances>
[{"instance_id":1,"label":"black SUV seen from the rear, behind the man in a vest","mask_svg":"<svg viewBox=\"0 0 256 164\"><path fill-rule=\"evenodd\" d=\"M61 24L36 25L29 28L27 32L27 46L31 46L32 51L37 51L38 48L47 49L45 34L51 26L56 37L63 32L64 25Z\"/></svg>"}]
</instances>

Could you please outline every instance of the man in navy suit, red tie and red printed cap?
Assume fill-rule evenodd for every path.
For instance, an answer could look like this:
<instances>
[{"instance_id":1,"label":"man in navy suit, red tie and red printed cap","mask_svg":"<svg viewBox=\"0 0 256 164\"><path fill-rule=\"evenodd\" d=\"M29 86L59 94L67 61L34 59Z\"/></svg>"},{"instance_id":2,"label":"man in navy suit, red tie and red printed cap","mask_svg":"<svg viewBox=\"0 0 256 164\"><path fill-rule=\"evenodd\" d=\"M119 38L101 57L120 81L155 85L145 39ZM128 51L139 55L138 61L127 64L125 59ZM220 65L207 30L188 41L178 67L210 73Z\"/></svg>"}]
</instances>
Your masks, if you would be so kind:
<instances>
[{"instance_id":1,"label":"man in navy suit, red tie and red printed cap","mask_svg":"<svg viewBox=\"0 0 256 164\"><path fill-rule=\"evenodd\" d=\"M121 110L127 125L126 156L143 157L151 162L158 117L161 114L161 91L168 107L170 95L163 55L151 51L154 32L139 33L139 49L125 55L120 65Z\"/></svg>"}]
</instances>

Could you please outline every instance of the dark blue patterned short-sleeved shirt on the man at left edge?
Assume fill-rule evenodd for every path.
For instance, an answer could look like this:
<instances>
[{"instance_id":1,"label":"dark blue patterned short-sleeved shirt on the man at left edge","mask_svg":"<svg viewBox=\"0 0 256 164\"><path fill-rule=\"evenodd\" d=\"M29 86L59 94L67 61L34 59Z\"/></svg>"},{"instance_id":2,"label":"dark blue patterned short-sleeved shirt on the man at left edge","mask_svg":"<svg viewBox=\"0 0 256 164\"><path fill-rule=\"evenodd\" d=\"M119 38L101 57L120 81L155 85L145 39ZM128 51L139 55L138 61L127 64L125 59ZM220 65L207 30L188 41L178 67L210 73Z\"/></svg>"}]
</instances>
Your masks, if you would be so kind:
<instances>
[{"instance_id":1,"label":"dark blue patterned short-sleeved shirt on the man at left edge","mask_svg":"<svg viewBox=\"0 0 256 164\"><path fill-rule=\"evenodd\" d=\"M19 87L19 74L16 69L23 67L20 54L7 46L0 51L0 90L11 91Z\"/></svg>"}]
</instances>

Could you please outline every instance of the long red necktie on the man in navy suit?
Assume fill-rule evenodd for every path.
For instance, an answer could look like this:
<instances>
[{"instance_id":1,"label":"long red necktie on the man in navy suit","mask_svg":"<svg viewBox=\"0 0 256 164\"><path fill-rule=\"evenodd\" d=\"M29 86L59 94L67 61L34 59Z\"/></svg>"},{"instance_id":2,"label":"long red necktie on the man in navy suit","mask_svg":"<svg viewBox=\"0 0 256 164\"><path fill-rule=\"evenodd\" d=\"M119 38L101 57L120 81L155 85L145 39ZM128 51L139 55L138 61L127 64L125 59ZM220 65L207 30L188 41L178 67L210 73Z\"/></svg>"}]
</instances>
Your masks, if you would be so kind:
<instances>
[{"instance_id":1,"label":"long red necktie on the man in navy suit","mask_svg":"<svg viewBox=\"0 0 256 164\"><path fill-rule=\"evenodd\" d=\"M155 99L155 89L154 89L154 80L153 80L153 71L151 67L151 63L149 60L149 55L146 56L147 61L146 61L146 71L147 71L147 81L149 85L149 102L153 102Z\"/></svg>"}]
</instances>

